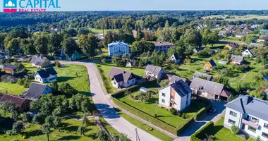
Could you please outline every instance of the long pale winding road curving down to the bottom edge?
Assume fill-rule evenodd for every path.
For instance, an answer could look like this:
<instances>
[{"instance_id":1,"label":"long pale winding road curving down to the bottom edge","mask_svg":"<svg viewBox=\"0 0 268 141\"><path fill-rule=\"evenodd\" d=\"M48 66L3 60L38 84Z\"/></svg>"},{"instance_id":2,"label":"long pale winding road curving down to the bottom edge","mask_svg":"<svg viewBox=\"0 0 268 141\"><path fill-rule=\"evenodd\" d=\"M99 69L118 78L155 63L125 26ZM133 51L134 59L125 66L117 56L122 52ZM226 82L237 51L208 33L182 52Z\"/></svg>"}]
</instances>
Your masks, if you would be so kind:
<instances>
[{"instance_id":1,"label":"long pale winding road curving down to the bottom edge","mask_svg":"<svg viewBox=\"0 0 268 141\"><path fill-rule=\"evenodd\" d=\"M99 71L94 63L85 63L85 62L67 62L60 61L61 64L76 64L83 65L87 67L87 72L90 79L90 91L92 93L92 99L99 111L99 114L103 116L105 121L109 123L113 128L118 130L118 132L128 135L130 140L136 140L135 128L136 126L129 123L118 115L116 111L114 111L113 107L109 103L109 97L104 94L102 90L101 80L99 80ZM150 135L144 130L138 129L138 135L141 141L159 141L157 137Z\"/></svg>"}]
</instances>

